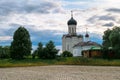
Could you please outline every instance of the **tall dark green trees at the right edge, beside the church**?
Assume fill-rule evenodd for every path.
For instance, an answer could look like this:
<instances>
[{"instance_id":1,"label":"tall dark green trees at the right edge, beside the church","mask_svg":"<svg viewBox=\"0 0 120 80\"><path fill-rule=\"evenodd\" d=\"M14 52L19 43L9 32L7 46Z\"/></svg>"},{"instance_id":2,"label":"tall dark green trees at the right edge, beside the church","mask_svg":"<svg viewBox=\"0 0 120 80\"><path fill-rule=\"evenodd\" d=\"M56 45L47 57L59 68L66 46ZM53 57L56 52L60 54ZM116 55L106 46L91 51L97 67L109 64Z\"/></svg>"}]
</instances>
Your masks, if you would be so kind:
<instances>
[{"instance_id":1,"label":"tall dark green trees at the right edge, beside the church","mask_svg":"<svg viewBox=\"0 0 120 80\"><path fill-rule=\"evenodd\" d=\"M103 51L105 56L112 54L114 58L120 58L120 27L114 27L104 32Z\"/></svg>"}]
</instances>

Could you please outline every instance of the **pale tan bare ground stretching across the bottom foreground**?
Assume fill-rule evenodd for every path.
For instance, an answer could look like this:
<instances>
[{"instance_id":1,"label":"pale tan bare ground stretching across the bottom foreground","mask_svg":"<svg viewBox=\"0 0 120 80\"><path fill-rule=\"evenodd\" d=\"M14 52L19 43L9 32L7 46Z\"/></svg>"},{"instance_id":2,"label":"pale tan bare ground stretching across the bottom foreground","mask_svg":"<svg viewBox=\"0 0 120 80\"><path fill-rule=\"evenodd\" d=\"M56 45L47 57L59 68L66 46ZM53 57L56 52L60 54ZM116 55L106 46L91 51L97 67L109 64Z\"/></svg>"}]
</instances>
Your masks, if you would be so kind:
<instances>
[{"instance_id":1,"label":"pale tan bare ground stretching across the bottom foreground","mask_svg":"<svg viewBox=\"0 0 120 80\"><path fill-rule=\"evenodd\" d=\"M60 65L0 68L0 80L120 80L120 67Z\"/></svg>"}]
</instances>

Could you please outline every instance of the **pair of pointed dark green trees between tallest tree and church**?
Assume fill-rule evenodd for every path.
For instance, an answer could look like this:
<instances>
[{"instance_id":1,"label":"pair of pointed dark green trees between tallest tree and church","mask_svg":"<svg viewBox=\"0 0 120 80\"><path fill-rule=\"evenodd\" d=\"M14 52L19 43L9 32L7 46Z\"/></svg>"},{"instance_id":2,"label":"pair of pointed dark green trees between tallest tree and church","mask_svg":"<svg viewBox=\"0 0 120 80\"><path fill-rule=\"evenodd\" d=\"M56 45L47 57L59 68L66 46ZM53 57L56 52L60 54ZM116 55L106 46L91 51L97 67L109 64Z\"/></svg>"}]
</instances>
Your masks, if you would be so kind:
<instances>
[{"instance_id":1,"label":"pair of pointed dark green trees between tallest tree and church","mask_svg":"<svg viewBox=\"0 0 120 80\"><path fill-rule=\"evenodd\" d=\"M40 42L38 43L38 48L33 52L33 57L38 56L41 59L54 59L59 50L55 48L55 45L52 41L49 41L45 47Z\"/></svg>"}]
</instances>

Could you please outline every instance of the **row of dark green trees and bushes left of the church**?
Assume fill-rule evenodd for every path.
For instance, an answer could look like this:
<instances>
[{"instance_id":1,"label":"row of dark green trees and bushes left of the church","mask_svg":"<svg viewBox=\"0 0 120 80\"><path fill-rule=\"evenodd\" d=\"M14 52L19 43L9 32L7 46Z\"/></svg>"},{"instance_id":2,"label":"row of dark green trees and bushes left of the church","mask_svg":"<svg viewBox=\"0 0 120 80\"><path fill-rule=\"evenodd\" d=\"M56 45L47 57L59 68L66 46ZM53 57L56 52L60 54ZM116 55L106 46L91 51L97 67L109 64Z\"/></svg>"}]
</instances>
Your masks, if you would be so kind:
<instances>
[{"instance_id":1,"label":"row of dark green trees and bushes left of the church","mask_svg":"<svg viewBox=\"0 0 120 80\"><path fill-rule=\"evenodd\" d=\"M24 27L19 27L13 35L11 46L0 46L0 58L24 59L31 55L32 42L29 32ZM55 48L54 42L49 41L45 47L40 42L38 48L32 53L32 57L36 56L41 59L54 59L57 56L58 49ZM71 57L72 53L65 51L61 55L63 57Z\"/></svg>"}]
</instances>

